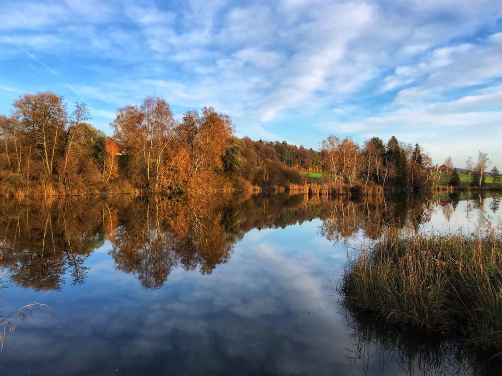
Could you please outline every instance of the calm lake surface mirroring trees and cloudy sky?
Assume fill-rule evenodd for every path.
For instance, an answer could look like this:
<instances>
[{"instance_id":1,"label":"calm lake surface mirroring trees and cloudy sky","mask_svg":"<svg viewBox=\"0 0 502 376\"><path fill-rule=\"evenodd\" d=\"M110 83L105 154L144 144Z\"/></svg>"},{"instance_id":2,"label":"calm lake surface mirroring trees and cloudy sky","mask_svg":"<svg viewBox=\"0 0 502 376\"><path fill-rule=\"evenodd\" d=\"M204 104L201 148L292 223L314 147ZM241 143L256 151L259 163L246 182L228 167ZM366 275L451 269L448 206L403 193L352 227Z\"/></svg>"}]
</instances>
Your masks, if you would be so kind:
<instances>
[{"instance_id":1,"label":"calm lake surface mirroring trees and cloudy sky","mask_svg":"<svg viewBox=\"0 0 502 376\"><path fill-rule=\"evenodd\" d=\"M346 253L387 226L471 231L499 198L0 202L0 374L492 374L454 339L340 306ZM10 315L24 308L26 314ZM2 328L2 326L0 326ZM3 330L3 328L2 328Z\"/></svg>"}]
</instances>

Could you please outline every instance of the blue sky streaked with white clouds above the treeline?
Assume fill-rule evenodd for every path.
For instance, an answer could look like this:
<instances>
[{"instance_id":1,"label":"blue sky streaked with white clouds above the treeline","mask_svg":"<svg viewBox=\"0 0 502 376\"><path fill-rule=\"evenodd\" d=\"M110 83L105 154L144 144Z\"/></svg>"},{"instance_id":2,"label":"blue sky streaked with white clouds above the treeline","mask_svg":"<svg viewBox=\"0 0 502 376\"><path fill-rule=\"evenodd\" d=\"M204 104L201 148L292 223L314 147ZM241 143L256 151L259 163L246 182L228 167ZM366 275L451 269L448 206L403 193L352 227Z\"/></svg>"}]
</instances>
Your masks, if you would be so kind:
<instances>
[{"instance_id":1,"label":"blue sky streaked with white clouds above the treeline","mask_svg":"<svg viewBox=\"0 0 502 376\"><path fill-rule=\"evenodd\" d=\"M146 95L212 106L237 136L317 149L330 134L419 142L502 167L500 0L0 0L0 113L86 102L112 134Z\"/></svg>"}]
</instances>

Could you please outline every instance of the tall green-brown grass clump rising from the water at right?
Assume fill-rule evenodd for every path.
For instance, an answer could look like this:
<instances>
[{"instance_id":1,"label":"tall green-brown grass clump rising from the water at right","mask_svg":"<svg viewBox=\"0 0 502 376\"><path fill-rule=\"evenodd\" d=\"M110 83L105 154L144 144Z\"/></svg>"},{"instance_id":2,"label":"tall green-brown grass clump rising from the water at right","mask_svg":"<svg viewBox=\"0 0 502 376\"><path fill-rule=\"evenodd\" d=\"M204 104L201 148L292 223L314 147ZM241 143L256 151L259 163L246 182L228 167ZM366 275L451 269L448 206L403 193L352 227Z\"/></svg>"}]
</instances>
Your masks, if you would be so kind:
<instances>
[{"instance_id":1,"label":"tall green-brown grass clump rising from the water at right","mask_svg":"<svg viewBox=\"0 0 502 376\"><path fill-rule=\"evenodd\" d=\"M460 335L502 351L502 229L385 235L349 261L340 290L350 309L388 324Z\"/></svg>"}]
</instances>

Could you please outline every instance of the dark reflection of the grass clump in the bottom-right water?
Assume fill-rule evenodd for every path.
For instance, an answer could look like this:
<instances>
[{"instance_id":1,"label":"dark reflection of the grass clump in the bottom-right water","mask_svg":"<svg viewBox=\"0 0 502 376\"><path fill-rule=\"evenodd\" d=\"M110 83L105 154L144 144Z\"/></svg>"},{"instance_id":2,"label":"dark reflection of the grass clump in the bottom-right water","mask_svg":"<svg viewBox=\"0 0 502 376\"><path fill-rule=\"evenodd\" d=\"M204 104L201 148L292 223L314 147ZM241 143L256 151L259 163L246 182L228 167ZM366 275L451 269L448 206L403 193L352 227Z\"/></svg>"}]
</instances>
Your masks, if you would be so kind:
<instances>
[{"instance_id":1,"label":"dark reflection of the grass clump in the bottom-right water","mask_svg":"<svg viewBox=\"0 0 502 376\"><path fill-rule=\"evenodd\" d=\"M384 317L346 306L347 323L355 349L350 358L363 363L366 373L376 373L371 359L379 359L380 373L396 362L406 374L492 375L500 359L464 346L452 336L417 331L403 326L389 327Z\"/></svg>"}]
</instances>

